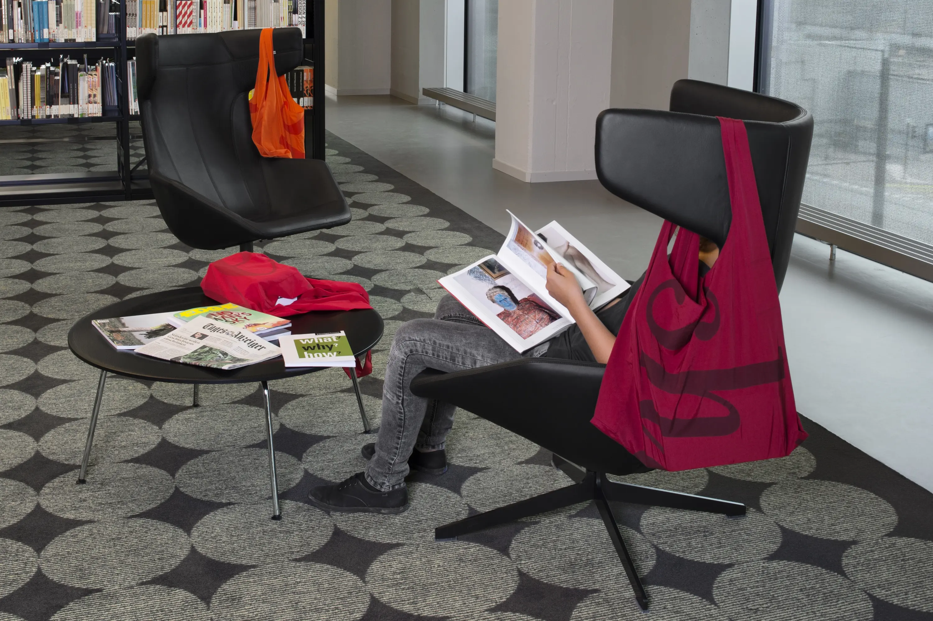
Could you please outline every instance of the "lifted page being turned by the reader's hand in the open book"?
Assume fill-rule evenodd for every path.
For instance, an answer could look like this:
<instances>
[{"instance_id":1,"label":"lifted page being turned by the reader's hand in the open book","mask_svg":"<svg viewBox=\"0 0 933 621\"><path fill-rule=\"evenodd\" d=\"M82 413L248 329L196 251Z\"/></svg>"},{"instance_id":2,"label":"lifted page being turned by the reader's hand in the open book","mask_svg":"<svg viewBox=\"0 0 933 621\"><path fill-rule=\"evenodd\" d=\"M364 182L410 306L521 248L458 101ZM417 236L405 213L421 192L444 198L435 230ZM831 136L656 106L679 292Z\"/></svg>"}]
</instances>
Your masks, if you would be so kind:
<instances>
[{"instance_id":1,"label":"lifted page being turned by the reader's hand in the open book","mask_svg":"<svg viewBox=\"0 0 933 621\"><path fill-rule=\"evenodd\" d=\"M541 297L548 299L551 306L557 305L558 302L547 296L548 268L556 262L563 263L564 267L577 279L587 304L591 304L592 299L597 295L596 284L592 283L576 266L563 261L561 255L547 242L541 240L530 228L524 226L515 214L506 211L512 218L512 225L508 229L506 242L499 250L500 259L514 269L522 281L529 283ZM563 306L559 310L562 314L567 314Z\"/></svg>"}]
</instances>

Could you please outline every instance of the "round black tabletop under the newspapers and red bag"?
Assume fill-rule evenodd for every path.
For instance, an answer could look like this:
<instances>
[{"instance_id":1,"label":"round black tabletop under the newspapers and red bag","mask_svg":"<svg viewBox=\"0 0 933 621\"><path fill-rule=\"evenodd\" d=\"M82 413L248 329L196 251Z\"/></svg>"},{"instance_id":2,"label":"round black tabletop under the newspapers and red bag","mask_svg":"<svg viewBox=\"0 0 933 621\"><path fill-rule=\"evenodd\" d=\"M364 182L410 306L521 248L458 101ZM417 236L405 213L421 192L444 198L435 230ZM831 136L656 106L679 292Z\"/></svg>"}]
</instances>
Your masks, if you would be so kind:
<instances>
[{"instance_id":1,"label":"round black tabletop under the newspapers and red bag","mask_svg":"<svg viewBox=\"0 0 933 621\"><path fill-rule=\"evenodd\" d=\"M77 320L68 332L68 347L91 366L138 380L169 381L186 384L227 384L247 381L270 381L291 378L327 367L286 368L282 356L241 366L230 371L205 366L183 365L152 358L132 350L118 350L91 324L91 319L145 315L150 312L185 311L198 306L217 304L203 294L201 287L170 289L146 296L131 297L93 311ZM344 330L355 355L368 352L383 338L383 318L371 309L356 311L313 311L293 315L292 334L336 332Z\"/></svg>"}]
</instances>

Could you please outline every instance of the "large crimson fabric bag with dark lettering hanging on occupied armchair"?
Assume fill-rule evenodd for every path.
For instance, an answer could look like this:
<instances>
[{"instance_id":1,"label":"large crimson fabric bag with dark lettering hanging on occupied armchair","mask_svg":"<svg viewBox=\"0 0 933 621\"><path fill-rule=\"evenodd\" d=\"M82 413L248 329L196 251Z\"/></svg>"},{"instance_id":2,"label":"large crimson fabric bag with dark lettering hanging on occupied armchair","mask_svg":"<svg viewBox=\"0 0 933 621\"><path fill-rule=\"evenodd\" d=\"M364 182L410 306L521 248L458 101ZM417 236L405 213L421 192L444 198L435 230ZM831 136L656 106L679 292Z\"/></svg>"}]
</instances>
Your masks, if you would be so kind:
<instances>
[{"instance_id":1,"label":"large crimson fabric bag with dark lettering hanging on occupied armchair","mask_svg":"<svg viewBox=\"0 0 933 621\"><path fill-rule=\"evenodd\" d=\"M609 356L592 423L663 470L784 457L807 436L745 123L719 118L732 224L698 275L700 238L665 222Z\"/></svg>"}]
</instances>

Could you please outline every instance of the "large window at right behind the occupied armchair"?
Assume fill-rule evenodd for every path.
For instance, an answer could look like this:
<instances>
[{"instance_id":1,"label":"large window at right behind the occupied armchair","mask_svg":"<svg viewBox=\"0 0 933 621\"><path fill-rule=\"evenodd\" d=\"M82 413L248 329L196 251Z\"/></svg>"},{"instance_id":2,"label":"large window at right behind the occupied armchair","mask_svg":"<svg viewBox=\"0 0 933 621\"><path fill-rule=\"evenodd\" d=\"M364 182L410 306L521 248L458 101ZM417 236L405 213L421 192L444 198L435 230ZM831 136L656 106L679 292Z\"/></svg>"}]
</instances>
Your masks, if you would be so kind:
<instances>
[{"instance_id":1,"label":"large window at right behind the occupied armchair","mask_svg":"<svg viewBox=\"0 0 933 621\"><path fill-rule=\"evenodd\" d=\"M803 203L933 244L933 2L764 0L759 88L815 119Z\"/></svg>"}]
</instances>

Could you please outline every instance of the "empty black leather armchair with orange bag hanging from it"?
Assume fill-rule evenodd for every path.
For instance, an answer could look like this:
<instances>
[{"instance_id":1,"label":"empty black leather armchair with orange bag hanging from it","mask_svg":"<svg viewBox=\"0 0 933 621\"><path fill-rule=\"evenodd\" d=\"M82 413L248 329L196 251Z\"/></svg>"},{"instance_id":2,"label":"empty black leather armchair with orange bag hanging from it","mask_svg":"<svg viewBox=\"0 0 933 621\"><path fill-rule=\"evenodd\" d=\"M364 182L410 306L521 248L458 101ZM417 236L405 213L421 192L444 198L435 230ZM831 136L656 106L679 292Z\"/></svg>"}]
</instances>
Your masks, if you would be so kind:
<instances>
[{"instance_id":1,"label":"empty black leather armchair with orange bag hanging from it","mask_svg":"<svg viewBox=\"0 0 933 621\"><path fill-rule=\"evenodd\" d=\"M247 94L256 83L259 30L144 34L136 39L137 92L149 183L168 228L216 250L350 221L319 159L263 158ZM304 57L298 28L272 34L281 76Z\"/></svg>"}]
</instances>

